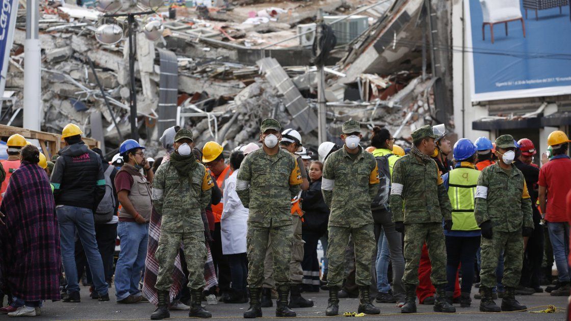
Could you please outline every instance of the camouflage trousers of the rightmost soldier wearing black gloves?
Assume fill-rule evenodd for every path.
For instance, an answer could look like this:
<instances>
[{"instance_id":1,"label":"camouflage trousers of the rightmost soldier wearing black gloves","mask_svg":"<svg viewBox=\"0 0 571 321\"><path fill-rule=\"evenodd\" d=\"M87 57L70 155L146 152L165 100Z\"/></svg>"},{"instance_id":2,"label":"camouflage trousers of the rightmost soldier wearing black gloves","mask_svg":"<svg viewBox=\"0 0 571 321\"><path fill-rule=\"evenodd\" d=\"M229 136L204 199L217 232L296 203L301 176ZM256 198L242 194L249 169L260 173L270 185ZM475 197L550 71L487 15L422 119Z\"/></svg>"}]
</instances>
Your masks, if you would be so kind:
<instances>
[{"instance_id":1,"label":"camouflage trousers of the rightmost soldier wearing black gloves","mask_svg":"<svg viewBox=\"0 0 571 321\"><path fill-rule=\"evenodd\" d=\"M482 238L481 284L485 287L496 286L496 267L498 257L504 251L504 278L506 287L517 287L520 283L521 266L524 261L524 238L521 230L516 232L493 231L492 239Z\"/></svg>"}]
</instances>

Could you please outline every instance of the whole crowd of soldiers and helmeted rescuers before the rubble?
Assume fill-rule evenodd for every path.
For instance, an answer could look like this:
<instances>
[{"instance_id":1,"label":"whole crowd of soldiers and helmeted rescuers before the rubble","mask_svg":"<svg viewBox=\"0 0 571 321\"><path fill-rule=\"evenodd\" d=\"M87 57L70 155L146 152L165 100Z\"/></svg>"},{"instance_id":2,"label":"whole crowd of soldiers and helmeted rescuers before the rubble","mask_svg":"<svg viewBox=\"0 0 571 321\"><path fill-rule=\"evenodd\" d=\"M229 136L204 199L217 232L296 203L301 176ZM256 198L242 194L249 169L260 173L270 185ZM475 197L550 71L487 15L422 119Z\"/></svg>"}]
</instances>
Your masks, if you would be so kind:
<instances>
[{"instance_id":1,"label":"whole crowd of soldiers and helmeted rescuers before the rubble","mask_svg":"<svg viewBox=\"0 0 571 321\"><path fill-rule=\"evenodd\" d=\"M317 159L275 119L230 153L214 141L198 149L191 130L171 127L157 159L128 139L107 162L82 134L67 125L51 162L19 134L6 142L0 298L9 305L0 313L81 302L79 282L102 302L114 284L117 303L154 304L151 319L171 310L210 318L202 302L211 299L249 302L244 318L259 318L272 298L276 316L293 317L314 304L304 292L321 290L327 316L347 297L369 315L380 314L373 302L415 313L416 299L456 312L471 306L473 286L482 312L526 310L515 295L569 296L571 141L562 131L549 135L541 167L530 139L452 146L444 125L413 131L409 149L373 127L364 148L361 124L347 121L343 145L321 143ZM553 263L557 279L542 288Z\"/></svg>"}]
</instances>

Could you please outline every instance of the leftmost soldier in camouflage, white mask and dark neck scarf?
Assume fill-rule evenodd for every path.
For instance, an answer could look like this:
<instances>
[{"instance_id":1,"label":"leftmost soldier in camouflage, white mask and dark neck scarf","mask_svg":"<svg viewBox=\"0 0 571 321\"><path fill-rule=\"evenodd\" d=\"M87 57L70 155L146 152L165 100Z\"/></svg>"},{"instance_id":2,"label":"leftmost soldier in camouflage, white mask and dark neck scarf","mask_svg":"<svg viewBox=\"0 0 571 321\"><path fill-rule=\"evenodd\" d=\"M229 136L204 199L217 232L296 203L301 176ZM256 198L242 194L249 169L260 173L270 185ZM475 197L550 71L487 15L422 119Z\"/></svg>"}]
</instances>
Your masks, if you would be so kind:
<instances>
[{"instance_id":1,"label":"leftmost soldier in camouflage, white mask and dark neck scarf","mask_svg":"<svg viewBox=\"0 0 571 321\"><path fill-rule=\"evenodd\" d=\"M155 258L159 262L155 288L158 291L158 307L151 319L168 318L168 293L172 286L172 268L178 255L180 242L184 246L184 258L188 268L188 288L191 291L192 307L188 316L210 318L210 312L200 305L204 281L204 263L207 252L204 243L202 208L210 202L214 186L206 168L196 161L190 145L192 132L179 130L175 135L168 162L156 170L152 182L152 204L159 215L159 246Z\"/></svg>"}]
</instances>

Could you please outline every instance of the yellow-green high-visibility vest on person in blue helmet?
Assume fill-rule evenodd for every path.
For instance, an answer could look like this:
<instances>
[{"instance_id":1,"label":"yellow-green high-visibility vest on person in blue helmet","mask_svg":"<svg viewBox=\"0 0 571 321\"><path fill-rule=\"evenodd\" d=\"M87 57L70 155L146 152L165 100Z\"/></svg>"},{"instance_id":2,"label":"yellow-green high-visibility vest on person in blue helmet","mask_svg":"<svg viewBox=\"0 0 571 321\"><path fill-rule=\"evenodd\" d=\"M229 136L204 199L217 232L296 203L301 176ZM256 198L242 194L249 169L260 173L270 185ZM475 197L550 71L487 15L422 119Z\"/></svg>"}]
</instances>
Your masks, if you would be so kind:
<instances>
[{"instance_id":1,"label":"yellow-green high-visibility vest on person in blue helmet","mask_svg":"<svg viewBox=\"0 0 571 321\"><path fill-rule=\"evenodd\" d=\"M480 230L474 216L474 195L479 177L480 171L469 167L459 167L448 174L453 231Z\"/></svg>"}]
</instances>

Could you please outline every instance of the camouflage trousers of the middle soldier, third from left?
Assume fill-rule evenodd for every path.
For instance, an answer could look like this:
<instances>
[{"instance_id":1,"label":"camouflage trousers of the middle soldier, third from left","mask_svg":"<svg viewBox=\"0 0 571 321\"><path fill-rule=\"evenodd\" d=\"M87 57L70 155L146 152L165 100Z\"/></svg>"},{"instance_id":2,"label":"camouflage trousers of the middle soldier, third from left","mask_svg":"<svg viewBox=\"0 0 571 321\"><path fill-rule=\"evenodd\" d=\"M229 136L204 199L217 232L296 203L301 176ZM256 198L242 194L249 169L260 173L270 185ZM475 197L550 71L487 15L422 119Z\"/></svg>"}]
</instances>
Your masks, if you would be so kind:
<instances>
[{"instance_id":1,"label":"camouflage trousers of the middle soldier, third from left","mask_svg":"<svg viewBox=\"0 0 571 321\"><path fill-rule=\"evenodd\" d=\"M372 253L376 247L373 224L356 228L329 226L328 231L329 273L327 274L327 281L329 286L340 287L343 284L345 248L349 242L349 235L355 242L355 283L357 286L370 286Z\"/></svg>"}]
</instances>

